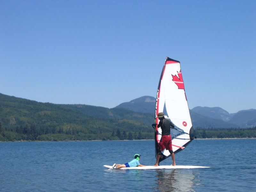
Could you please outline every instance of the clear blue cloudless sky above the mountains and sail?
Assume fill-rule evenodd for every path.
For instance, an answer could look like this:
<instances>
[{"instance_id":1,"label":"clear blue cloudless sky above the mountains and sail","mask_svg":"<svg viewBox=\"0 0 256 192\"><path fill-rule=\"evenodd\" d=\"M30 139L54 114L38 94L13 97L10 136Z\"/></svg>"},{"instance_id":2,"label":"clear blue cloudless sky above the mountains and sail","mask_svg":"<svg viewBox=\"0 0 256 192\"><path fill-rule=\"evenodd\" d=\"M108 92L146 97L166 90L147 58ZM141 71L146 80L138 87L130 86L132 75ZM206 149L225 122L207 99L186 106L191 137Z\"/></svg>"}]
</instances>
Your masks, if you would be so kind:
<instances>
[{"instance_id":1,"label":"clear blue cloudless sky above the mountains and sail","mask_svg":"<svg viewBox=\"0 0 256 192\"><path fill-rule=\"evenodd\" d=\"M189 108L256 108L255 0L1 0L0 93L113 108L179 60Z\"/></svg>"}]
</instances>

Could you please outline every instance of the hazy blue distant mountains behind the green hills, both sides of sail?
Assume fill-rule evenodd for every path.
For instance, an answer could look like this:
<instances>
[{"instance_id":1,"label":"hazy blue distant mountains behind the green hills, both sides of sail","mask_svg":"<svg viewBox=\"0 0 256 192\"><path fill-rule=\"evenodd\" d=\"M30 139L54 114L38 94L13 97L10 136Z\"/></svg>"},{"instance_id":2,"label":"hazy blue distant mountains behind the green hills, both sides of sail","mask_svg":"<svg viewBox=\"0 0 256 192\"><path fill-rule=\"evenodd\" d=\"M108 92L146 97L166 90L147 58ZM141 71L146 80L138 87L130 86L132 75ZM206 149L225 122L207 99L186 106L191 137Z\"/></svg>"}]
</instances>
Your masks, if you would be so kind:
<instances>
[{"instance_id":1,"label":"hazy blue distant mountains behind the green hills, both sides of sail","mask_svg":"<svg viewBox=\"0 0 256 192\"><path fill-rule=\"evenodd\" d=\"M146 102L147 101L147 102ZM150 101L150 102L148 102ZM143 96L130 102L121 103L116 108L126 108L136 112L155 112L155 98ZM229 114L220 107L195 107L190 109L193 126L201 128L237 128L256 126L256 109L241 110Z\"/></svg>"}]
</instances>

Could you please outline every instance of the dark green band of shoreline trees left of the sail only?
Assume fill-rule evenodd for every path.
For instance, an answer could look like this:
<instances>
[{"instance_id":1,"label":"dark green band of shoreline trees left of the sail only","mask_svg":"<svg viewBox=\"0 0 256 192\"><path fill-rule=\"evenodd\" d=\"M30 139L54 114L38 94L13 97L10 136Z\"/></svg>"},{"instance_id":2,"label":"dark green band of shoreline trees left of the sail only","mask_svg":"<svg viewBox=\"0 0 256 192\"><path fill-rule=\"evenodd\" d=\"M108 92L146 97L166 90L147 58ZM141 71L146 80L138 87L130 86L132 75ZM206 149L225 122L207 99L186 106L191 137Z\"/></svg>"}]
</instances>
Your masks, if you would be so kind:
<instances>
[{"instance_id":1,"label":"dark green band of shoreline trees left of the sail only","mask_svg":"<svg viewBox=\"0 0 256 192\"><path fill-rule=\"evenodd\" d=\"M103 131L102 131L103 130ZM36 124L26 124L4 129L0 122L0 141L63 141L63 140L142 140L154 139L150 132L121 131L119 128L112 132L96 129L89 132L86 128L73 127L43 127Z\"/></svg>"}]
</instances>

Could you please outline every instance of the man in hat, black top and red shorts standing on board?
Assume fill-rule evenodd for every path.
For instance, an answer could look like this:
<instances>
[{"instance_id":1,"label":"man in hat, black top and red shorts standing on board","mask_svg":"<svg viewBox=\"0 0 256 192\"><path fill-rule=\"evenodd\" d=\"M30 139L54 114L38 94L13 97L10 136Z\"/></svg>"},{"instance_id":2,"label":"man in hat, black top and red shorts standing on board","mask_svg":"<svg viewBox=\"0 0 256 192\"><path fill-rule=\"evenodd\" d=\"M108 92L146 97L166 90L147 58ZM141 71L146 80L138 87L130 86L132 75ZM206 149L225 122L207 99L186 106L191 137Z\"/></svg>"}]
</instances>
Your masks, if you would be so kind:
<instances>
[{"instance_id":1,"label":"man in hat, black top and red shorts standing on board","mask_svg":"<svg viewBox=\"0 0 256 192\"><path fill-rule=\"evenodd\" d=\"M160 142L158 143L158 149L160 150L160 152L157 154L156 156L156 164L154 164L154 166L158 166L159 164L159 159L161 156L161 151L163 151L164 149L169 150L171 156L172 156L172 162L173 162L173 166L176 165L175 163L175 155L172 151L172 137L171 137L171 127L174 128L174 125L171 121L169 121L168 119L164 118L164 113L160 112L157 115L159 121L159 124L152 124L153 127L156 128L161 128L162 129L162 138L160 140Z\"/></svg>"}]
</instances>

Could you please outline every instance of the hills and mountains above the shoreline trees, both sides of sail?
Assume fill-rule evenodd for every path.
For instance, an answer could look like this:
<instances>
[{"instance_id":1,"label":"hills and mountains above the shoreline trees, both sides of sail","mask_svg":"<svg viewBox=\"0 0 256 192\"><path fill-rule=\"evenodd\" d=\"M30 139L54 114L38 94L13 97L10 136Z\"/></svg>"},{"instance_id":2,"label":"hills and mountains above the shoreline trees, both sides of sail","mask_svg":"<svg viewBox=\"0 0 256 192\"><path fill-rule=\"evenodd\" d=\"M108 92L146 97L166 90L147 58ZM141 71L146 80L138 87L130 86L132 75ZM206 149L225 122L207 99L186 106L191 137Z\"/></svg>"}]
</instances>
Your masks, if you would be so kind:
<instances>
[{"instance_id":1,"label":"hills and mountains above the shoreline trees, both sides of sail","mask_svg":"<svg viewBox=\"0 0 256 192\"><path fill-rule=\"evenodd\" d=\"M155 107L156 99L152 96L143 96L109 109L81 104L41 103L0 93L0 121L4 126L9 127L26 122L40 126L48 124L51 127L63 127L64 124L65 126L75 124L76 128L95 127L94 122L98 121L101 127L107 127L106 131L120 127L121 130L127 128L138 132L143 127L146 132L151 132ZM256 126L256 109L229 114L220 107L195 107L190 109L190 115L194 128ZM111 122L114 122L115 126Z\"/></svg>"}]
</instances>

